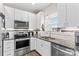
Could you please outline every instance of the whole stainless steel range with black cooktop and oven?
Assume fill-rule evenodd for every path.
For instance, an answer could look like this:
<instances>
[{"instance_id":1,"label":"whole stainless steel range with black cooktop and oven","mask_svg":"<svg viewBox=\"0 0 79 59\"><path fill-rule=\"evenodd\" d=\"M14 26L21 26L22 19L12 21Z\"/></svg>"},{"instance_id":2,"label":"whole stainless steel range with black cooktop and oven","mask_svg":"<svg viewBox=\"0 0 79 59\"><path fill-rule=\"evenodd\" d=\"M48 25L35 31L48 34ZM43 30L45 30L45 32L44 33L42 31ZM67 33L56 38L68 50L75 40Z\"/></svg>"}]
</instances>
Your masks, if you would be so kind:
<instances>
[{"instance_id":1,"label":"whole stainless steel range with black cooktop and oven","mask_svg":"<svg viewBox=\"0 0 79 59\"><path fill-rule=\"evenodd\" d=\"M30 32L15 32L15 55L21 56L30 51Z\"/></svg>"}]
</instances>

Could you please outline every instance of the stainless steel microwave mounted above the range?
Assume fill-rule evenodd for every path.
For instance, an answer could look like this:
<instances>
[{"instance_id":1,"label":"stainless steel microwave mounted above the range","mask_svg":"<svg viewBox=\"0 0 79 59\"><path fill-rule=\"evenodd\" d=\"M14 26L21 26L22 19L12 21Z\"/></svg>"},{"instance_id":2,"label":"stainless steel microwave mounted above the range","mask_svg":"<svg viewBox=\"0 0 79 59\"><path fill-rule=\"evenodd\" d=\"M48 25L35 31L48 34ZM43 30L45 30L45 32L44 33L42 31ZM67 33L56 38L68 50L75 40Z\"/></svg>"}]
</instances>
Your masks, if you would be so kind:
<instances>
[{"instance_id":1,"label":"stainless steel microwave mounted above the range","mask_svg":"<svg viewBox=\"0 0 79 59\"><path fill-rule=\"evenodd\" d=\"M14 28L15 29L28 29L29 28L29 22L27 21L14 21Z\"/></svg>"}]
</instances>

